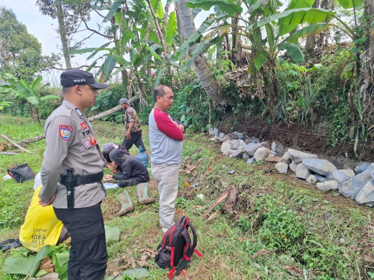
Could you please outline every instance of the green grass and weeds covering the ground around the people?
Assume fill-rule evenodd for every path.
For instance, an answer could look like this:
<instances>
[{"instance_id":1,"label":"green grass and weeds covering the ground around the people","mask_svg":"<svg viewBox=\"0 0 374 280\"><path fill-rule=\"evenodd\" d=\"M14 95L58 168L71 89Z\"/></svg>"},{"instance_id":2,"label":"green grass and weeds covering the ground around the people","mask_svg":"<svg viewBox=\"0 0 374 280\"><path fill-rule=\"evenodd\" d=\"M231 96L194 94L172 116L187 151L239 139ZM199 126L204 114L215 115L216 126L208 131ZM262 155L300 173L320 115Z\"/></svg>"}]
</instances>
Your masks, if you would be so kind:
<instances>
[{"instance_id":1,"label":"green grass and weeds covering the ground around the people","mask_svg":"<svg viewBox=\"0 0 374 280\"><path fill-rule=\"evenodd\" d=\"M42 126L27 119L0 116L0 121L1 132L13 138L42 133ZM122 142L123 126L94 121L93 127L100 145ZM190 217L197 229L197 249L203 255L193 257L186 270L188 279L370 279L374 272L370 263L374 256L371 208L358 206L334 192L323 193L288 176L263 173L274 164L247 165L224 158L219 146L204 135L187 132L185 136L177 213ZM143 127L143 141L149 150L148 127ZM0 155L2 176L12 164L24 162L35 172L40 170L44 140L26 148L33 154ZM130 153L135 156L138 150L133 147ZM228 175L228 170L234 170L234 174ZM2 239L17 237L32 185L0 181ZM223 201L211 212L218 210L216 218L207 223L201 214L230 187L238 189L234 217L222 210ZM158 204L137 205L134 187L129 188L136 205L134 212L115 216L120 209L115 194L121 191L109 189L102 204L105 223L118 226L121 232L120 241L108 247L110 272L113 267L125 265L120 261L124 256L140 260L142 250L155 250L162 238ZM150 192L158 196L153 181ZM204 199L197 198L198 194ZM0 253L0 267L12 254L19 251ZM154 266L147 269L150 279L167 278L164 270ZM9 278L0 271L0 279L18 276Z\"/></svg>"}]
</instances>

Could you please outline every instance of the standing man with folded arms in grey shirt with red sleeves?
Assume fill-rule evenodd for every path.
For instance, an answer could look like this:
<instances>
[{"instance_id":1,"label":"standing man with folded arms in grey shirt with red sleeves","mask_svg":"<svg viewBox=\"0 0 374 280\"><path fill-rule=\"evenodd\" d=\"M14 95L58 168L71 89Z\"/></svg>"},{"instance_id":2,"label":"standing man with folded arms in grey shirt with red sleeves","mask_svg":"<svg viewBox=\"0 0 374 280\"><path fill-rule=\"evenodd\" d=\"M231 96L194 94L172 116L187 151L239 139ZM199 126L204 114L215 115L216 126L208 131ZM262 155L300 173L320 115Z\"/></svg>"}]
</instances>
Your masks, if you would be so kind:
<instances>
[{"instance_id":1,"label":"standing man with folded arms in grey shirt with red sleeves","mask_svg":"<svg viewBox=\"0 0 374 280\"><path fill-rule=\"evenodd\" d=\"M149 115L152 175L160 193L160 223L166 232L174 225L179 170L186 127L166 111L174 102L173 91L159 86L153 93L155 106Z\"/></svg>"}]
</instances>

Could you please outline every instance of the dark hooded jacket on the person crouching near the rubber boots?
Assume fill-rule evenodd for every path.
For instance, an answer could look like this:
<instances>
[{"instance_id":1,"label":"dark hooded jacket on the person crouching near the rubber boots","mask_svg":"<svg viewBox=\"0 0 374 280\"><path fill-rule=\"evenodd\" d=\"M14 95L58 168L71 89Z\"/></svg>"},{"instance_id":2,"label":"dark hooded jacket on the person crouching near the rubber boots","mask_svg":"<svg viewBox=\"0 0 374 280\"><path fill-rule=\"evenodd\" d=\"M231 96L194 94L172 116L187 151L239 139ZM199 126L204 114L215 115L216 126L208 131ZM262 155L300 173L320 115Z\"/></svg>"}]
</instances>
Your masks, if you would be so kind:
<instances>
[{"instance_id":1,"label":"dark hooded jacket on the person crouching near the rubber boots","mask_svg":"<svg viewBox=\"0 0 374 280\"><path fill-rule=\"evenodd\" d=\"M142 182L149 181L147 168L137 159L126 155L121 149L113 149L110 152L109 157L113 162L118 163L120 175L113 175L113 179L137 179Z\"/></svg>"}]
</instances>

